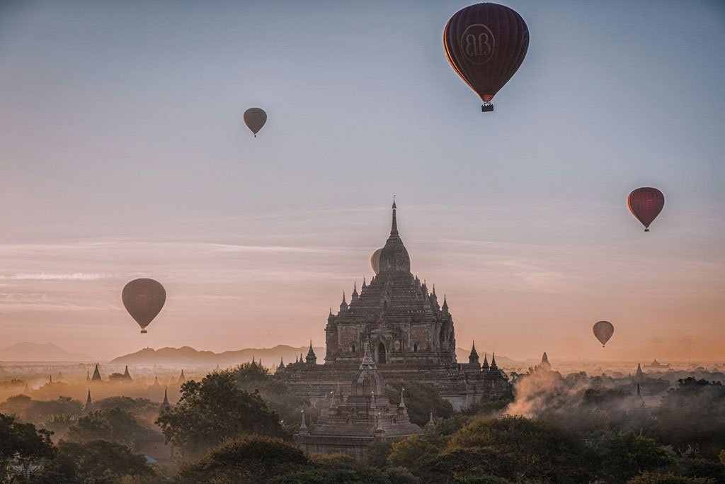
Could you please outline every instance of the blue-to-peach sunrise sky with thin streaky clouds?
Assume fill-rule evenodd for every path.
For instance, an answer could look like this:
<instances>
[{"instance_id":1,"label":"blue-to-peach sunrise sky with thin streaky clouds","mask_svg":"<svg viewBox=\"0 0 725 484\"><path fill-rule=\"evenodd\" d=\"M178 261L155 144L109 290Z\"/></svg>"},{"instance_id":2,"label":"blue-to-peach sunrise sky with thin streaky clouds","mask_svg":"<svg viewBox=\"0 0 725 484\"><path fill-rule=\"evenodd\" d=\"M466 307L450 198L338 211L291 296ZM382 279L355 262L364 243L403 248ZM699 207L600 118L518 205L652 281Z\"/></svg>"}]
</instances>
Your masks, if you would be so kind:
<instances>
[{"instance_id":1,"label":"blue-to-peach sunrise sky with thin streaky clouds","mask_svg":"<svg viewBox=\"0 0 725 484\"><path fill-rule=\"evenodd\" d=\"M457 345L725 358L725 4L507 1L531 45L486 114L442 49L467 4L0 2L0 348L322 345L395 192Z\"/></svg>"}]
</instances>

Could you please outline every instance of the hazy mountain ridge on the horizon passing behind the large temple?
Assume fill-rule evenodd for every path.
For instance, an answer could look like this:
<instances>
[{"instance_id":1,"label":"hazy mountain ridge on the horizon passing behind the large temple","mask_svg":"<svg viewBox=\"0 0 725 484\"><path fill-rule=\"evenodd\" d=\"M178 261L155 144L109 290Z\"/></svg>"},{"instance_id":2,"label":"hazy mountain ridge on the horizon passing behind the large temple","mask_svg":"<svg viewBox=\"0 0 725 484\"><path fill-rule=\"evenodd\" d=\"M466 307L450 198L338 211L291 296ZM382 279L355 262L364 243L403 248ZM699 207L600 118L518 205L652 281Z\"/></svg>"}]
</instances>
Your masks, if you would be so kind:
<instances>
[{"instance_id":1,"label":"hazy mountain ridge on the horizon passing behind the large temple","mask_svg":"<svg viewBox=\"0 0 725 484\"><path fill-rule=\"evenodd\" d=\"M325 358L325 348L321 346L313 347L315 355L318 358L318 363L322 363ZM182 348L159 348L154 350L153 348L144 348L138 350L136 353L130 353L128 355L119 356L118 358L110 361L111 364L132 364L132 365L143 365L143 364L197 364L197 365L216 365L219 366L233 366L247 361L252 361L252 356L256 361L262 359L262 364L265 366L272 366L279 364L280 358L283 358L285 364L294 361L295 357L299 358L300 353L302 357L307 356L307 350L309 346L301 346L295 348L294 346L288 345L277 345L274 348L244 348L243 350L231 350L224 351L223 353L214 353L213 351L199 351L191 348L190 346L183 346ZM468 363L468 355L471 350L465 350L463 348L456 349L456 357L459 363ZM488 353L490 355L490 353ZM483 363L484 353L479 352L481 363ZM490 362L489 356L489 362ZM496 362L499 365L511 365L515 364L510 358L505 356L496 356Z\"/></svg>"}]
</instances>

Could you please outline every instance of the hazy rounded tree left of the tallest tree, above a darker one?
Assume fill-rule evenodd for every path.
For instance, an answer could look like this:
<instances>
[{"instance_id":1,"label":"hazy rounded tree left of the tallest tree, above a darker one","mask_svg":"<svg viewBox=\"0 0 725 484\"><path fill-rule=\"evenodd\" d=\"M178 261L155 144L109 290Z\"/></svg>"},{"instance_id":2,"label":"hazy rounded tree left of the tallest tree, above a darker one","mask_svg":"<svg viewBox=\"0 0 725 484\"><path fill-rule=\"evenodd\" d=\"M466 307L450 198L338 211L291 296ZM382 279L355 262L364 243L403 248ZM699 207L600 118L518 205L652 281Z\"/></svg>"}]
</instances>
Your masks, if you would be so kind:
<instances>
[{"instance_id":1,"label":"hazy rounded tree left of the tallest tree, above a darker one","mask_svg":"<svg viewBox=\"0 0 725 484\"><path fill-rule=\"evenodd\" d=\"M68 427L67 438L75 442L107 440L133 447L146 438L149 432L127 411L112 408L92 411L80 417Z\"/></svg>"}]
</instances>

